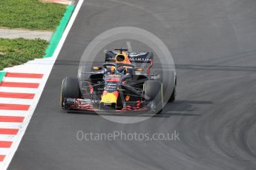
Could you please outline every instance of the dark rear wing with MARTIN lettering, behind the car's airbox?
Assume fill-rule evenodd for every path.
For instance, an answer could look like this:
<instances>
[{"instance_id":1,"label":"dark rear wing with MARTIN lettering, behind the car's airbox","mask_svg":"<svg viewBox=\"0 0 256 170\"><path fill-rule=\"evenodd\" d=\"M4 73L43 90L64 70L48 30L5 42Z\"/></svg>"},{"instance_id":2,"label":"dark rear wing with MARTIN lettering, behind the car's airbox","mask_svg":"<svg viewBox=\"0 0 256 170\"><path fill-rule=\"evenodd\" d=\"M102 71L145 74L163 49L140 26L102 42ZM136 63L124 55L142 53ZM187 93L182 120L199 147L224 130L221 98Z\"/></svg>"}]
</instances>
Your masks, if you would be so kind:
<instances>
[{"instance_id":1,"label":"dark rear wing with MARTIN lettering, behind the car's airbox","mask_svg":"<svg viewBox=\"0 0 256 170\"><path fill-rule=\"evenodd\" d=\"M116 57L116 52L107 51L105 53L105 62L113 61ZM154 55L152 52L127 52L128 58L131 63L151 63L153 61Z\"/></svg>"}]
</instances>

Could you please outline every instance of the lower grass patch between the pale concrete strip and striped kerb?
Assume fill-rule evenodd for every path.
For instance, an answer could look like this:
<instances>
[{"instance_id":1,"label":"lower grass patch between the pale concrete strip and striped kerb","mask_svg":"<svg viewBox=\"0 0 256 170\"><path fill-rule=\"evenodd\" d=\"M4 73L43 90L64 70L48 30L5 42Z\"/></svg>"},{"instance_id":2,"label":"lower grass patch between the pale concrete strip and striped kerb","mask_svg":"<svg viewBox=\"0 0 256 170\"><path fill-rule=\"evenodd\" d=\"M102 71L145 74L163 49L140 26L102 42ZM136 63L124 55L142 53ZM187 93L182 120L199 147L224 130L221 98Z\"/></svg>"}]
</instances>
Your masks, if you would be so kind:
<instances>
[{"instance_id":1,"label":"lower grass patch between the pale concrete strip and striped kerb","mask_svg":"<svg viewBox=\"0 0 256 170\"><path fill-rule=\"evenodd\" d=\"M48 42L42 39L0 38L0 70L45 55Z\"/></svg>"}]
</instances>

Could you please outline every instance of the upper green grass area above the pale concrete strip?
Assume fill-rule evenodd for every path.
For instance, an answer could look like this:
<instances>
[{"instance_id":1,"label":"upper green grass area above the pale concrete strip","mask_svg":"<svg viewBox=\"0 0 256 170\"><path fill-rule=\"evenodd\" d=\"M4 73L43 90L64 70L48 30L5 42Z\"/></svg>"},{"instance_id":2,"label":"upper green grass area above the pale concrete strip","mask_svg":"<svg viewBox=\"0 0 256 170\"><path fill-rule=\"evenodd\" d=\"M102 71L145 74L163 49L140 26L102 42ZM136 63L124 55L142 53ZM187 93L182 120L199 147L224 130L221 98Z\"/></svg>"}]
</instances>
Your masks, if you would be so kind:
<instances>
[{"instance_id":1,"label":"upper green grass area above the pale concrete strip","mask_svg":"<svg viewBox=\"0 0 256 170\"><path fill-rule=\"evenodd\" d=\"M55 30L65 8L39 0L0 0L0 27Z\"/></svg>"}]
</instances>

